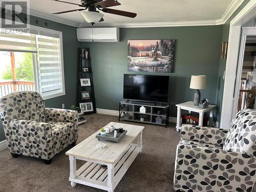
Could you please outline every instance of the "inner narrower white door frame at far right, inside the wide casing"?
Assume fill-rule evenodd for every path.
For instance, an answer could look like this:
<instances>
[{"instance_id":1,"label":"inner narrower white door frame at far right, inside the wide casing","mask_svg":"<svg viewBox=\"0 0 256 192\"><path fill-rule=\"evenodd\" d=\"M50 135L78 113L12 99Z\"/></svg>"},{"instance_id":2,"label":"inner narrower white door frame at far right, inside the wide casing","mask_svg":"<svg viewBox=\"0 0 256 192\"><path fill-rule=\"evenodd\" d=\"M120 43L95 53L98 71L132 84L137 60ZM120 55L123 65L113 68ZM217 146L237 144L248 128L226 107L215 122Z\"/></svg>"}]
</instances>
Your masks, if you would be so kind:
<instances>
[{"instance_id":1,"label":"inner narrower white door frame at far right, inside the wide casing","mask_svg":"<svg viewBox=\"0 0 256 192\"><path fill-rule=\"evenodd\" d=\"M240 80L242 76L245 42L246 42L247 36L256 36L256 27L242 27L242 36L241 36L241 43L240 43L240 53L239 53L237 79L236 79L237 83L236 83L236 90L234 92L234 104L233 104L232 117L234 117L237 114L237 109L238 109Z\"/></svg>"}]
</instances>

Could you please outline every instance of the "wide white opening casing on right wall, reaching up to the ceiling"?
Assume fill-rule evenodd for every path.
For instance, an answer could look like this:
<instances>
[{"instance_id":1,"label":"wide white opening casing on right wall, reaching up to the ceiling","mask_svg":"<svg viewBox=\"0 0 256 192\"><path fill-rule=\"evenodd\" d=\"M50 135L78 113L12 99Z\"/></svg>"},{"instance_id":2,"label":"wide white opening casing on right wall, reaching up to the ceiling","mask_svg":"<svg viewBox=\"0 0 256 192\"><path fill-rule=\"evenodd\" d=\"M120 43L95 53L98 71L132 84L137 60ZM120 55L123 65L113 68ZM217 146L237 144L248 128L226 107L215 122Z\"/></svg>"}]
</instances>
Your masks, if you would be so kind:
<instances>
[{"instance_id":1,"label":"wide white opening casing on right wall, reaching up to the ceiling","mask_svg":"<svg viewBox=\"0 0 256 192\"><path fill-rule=\"evenodd\" d=\"M233 118L234 90L238 67L241 26L256 16L256 0L251 0L231 20L228 37L227 62L222 100L220 127L228 129Z\"/></svg>"}]
</instances>

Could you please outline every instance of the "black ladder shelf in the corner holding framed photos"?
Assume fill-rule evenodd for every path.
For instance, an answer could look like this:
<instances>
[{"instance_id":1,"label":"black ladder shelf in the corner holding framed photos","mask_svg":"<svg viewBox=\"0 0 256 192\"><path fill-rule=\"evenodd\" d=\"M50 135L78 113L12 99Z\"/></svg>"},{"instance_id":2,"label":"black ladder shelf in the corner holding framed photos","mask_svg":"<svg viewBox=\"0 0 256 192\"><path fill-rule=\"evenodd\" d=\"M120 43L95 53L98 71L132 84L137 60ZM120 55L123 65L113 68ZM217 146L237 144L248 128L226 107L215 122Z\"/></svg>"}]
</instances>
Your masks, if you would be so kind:
<instances>
[{"instance_id":1,"label":"black ladder shelf in the corner holding framed photos","mask_svg":"<svg viewBox=\"0 0 256 192\"><path fill-rule=\"evenodd\" d=\"M80 79L90 79L90 86L82 85ZM82 98L81 93L87 91L90 92L90 98ZM90 49L88 48L78 48L76 106L80 107L80 103L92 103L93 109L86 110L83 112L83 114L96 113L92 63Z\"/></svg>"}]
</instances>

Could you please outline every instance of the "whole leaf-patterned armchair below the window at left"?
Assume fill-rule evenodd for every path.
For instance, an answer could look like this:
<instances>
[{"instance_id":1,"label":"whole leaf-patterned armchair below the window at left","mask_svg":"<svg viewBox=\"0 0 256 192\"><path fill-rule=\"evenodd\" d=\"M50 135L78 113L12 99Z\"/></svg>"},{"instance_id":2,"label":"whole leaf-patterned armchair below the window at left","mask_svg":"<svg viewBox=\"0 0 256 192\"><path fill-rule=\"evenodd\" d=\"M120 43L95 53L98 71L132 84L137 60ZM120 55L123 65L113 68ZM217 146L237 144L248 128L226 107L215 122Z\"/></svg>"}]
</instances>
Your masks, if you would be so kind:
<instances>
[{"instance_id":1,"label":"whole leaf-patterned armchair below the window at left","mask_svg":"<svg viewBox=\"0 0 256 192\"><path fill-rule=\"evenodd\" d=\"M75 145L78 137L77 111L45 108L37 92L14 92L2 97L0 115L14 158L25 155L50 164L54 155Z\"/></svg>"}]
</instances>

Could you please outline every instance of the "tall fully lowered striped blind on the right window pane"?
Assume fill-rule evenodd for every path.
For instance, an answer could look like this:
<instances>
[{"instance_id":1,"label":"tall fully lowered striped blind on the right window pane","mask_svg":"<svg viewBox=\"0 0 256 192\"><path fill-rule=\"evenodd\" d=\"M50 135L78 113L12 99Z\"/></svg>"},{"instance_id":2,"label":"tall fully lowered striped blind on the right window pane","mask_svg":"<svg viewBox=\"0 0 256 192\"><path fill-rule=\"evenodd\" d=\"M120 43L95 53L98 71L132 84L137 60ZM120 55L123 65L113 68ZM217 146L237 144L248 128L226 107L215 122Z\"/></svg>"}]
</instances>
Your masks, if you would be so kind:
<instances>
[{"instance_id":1,"label":"tall fully lowered striped blind on the right window pane","mask_svg":"<svg viewBox=\"0 0 256 192\"><path fill-rule=\"evenodd\" d=\"M60 36L47 32L36 35L38 89L43 97L63 93Z\"/></svg>"}]
</instances>

